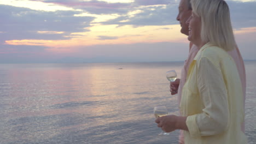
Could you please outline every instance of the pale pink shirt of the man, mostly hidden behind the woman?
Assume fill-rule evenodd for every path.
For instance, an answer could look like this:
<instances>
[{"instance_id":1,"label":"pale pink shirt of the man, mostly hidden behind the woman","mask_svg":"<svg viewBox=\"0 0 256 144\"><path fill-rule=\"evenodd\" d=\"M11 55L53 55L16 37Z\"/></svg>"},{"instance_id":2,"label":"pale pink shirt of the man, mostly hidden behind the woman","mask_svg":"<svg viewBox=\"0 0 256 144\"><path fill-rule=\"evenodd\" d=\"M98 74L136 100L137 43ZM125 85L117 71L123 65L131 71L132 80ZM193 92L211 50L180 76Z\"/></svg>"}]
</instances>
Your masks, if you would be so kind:
<instances>
[{"instance_id":1,"label":"pale pink shirt of the man, mostly hidden behind the woman","mask_svg":"<svg viewBox=\"0 0 256 144\"><path fill-rule=\"evenodd\" d=\"M191 64L191 62L193 61L193 59L196 56L196 53L199 51L199 49L190 43L190 49L189 49L189 55L188 55L188 59L185 61L184 66L182 68L182 73L181 73L181 80L179 82L179 88L178 88L178 104L181 103L181 97L182 97L182 88L186 82L186 77L188 74L188 69L189 66ZM245 106L245 98L246 98L246 71L245 71L245 64L243 63L243 58L241 56L240 51L238 50L238 47L236 47L234 50L232 51L228 51L229 55L234 59L235 63L236 63L236 67L238 70L238 73L240 75L240 80L242 83L242 88L243 88L243 104ZM242 131L245 132L245 122L243 122L242 124ZM183 130L180 130L180 134L179 134L179 143L184 143L184 134L183 134Z\"/></svg>"}]
</instances>

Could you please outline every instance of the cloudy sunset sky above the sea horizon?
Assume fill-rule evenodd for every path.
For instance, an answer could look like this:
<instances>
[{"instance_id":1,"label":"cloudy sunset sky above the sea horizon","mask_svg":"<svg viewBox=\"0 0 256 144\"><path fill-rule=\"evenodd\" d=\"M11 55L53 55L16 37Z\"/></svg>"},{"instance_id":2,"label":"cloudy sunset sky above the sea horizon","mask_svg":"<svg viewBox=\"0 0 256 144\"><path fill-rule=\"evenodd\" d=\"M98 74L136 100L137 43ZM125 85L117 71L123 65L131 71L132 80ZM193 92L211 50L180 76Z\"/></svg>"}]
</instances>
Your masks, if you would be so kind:
<instances>
[{"instance_id":1,"label":"cloudy sunset sky above the sea horizon","mask_svg":"<svg viewBox=\"0 0 256 144\"><path fill-rule=\"evenodd\" d=\"M256 59L256 0L229 0L236 43ZM179 0L0 0L0 63L184 61Z\"/></svg>"}]
</instances>

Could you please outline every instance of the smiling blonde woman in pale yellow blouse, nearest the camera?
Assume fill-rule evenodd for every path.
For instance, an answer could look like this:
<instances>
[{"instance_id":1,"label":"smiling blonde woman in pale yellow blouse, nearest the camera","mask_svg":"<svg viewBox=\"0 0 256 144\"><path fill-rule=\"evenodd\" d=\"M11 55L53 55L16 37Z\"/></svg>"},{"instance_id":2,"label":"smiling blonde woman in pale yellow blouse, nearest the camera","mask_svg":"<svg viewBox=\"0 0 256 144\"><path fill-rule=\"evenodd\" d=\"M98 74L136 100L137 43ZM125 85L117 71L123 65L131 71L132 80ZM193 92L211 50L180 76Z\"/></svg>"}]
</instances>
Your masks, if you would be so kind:
<instances>
[{"instance_id":1,"label":"smiling blonde woman in pale yellow blouse, nearest the camera","mask_svg":"<svg viewBox=\"0 0 256 144\"><path fill-rule=\"evenodd\" d=\"M199 47L182 90L182 116L156 119L166 132L184 130L189 143L247 143L243 90L234 59L229 7L223 0L191 0L188 40Z\"/></svg>"}]
</instances>

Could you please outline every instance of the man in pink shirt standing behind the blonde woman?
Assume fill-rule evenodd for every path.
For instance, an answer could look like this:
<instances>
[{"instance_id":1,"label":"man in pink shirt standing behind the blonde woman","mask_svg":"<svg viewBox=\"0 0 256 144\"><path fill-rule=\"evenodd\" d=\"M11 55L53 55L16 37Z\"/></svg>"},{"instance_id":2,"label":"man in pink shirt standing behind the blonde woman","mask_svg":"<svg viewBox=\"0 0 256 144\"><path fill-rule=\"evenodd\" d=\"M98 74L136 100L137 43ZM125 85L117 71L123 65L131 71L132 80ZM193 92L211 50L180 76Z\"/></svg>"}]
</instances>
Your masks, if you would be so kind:
<instances>
[{"instance_id":1,"label":"man in pink shirt standing behind the blonde woman","mask_svg":"<svg viewBox=\"0 0 256 144\"><path fill-rule=\"evenodd\" d=\"M190 0L181 0L179 3L179 13L177 15L177 20L181 24L181 33L185 35L189 35L189 28L188 28L188 22L186 22L192 13L192 8L190 4ZM181 79L177 79L174 82L170 82L170 92L172 95L177 94L178 97L178 104L181 102L182 97L182 88L186 82L187 73L189 66L191 62L193 61L197 51L199 49L192 43L189 44L189 55L187 60L184 62L184 66L182 68L182 74ZM242 82L242 88L243 88L243 97L244 97L244 104L245 104L245 96L246 96L246 73L245 73L245 65L243 63L242 56L240 54L240 51L236 47L236 49L232 51L228 51L228 53L231 55L231 57L234 59L238 73L240 75L240 79ZM242 131L245 132L245 124L242 124ZM184 135L183 130L180 130L179 134L179 143L184 143Z\"/></svg>"}]
</instances>

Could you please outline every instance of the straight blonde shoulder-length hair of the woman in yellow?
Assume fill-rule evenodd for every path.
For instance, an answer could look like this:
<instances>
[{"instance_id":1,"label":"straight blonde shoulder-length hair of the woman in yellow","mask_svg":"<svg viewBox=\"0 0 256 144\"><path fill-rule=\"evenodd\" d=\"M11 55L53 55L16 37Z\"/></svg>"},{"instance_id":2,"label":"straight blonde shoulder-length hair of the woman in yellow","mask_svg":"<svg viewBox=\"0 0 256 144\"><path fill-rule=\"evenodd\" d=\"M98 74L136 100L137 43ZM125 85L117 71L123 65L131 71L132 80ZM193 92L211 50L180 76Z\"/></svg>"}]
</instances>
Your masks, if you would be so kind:
<instances>
[{"instance_id":1,"label":"straight blonde shoulder-length hair of the woman in yellow","mask_svg":"<svg viewBox=\"0 0 256 144\"><path fill-rule=\"evenodd\" d=\"M191 0L192 11L201 17L201 39L226 51L236 41L230 21L229 7L223 0Z\"/></svg>"}]
</instances>

